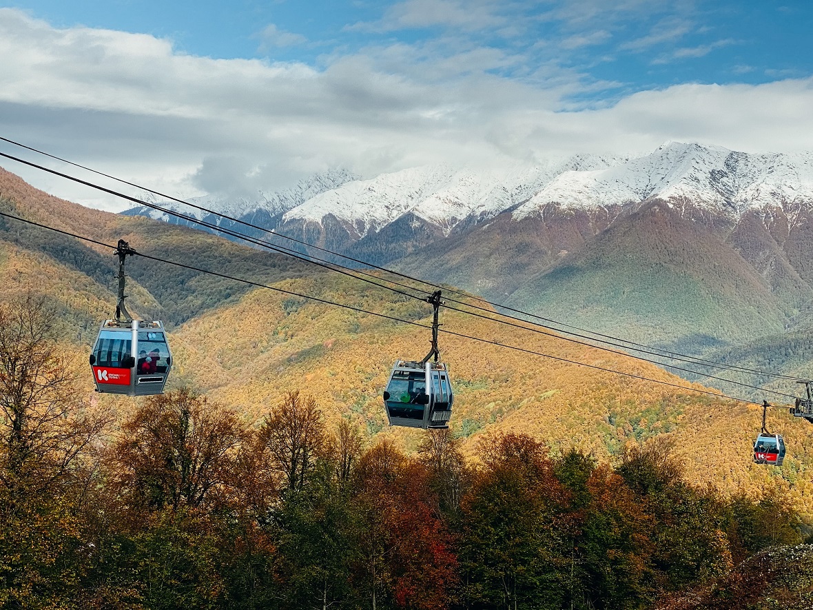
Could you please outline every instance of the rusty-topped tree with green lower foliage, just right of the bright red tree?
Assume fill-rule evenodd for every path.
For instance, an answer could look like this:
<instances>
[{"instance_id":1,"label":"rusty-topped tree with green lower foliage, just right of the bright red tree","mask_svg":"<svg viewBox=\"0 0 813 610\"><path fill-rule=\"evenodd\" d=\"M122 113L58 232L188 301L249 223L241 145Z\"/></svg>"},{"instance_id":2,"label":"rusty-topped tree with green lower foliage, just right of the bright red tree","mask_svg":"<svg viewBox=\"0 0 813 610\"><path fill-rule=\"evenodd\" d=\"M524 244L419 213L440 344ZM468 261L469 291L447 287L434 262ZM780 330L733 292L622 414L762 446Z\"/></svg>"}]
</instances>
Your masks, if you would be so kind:
<instances>
[{"instance_id":1,"label":"rusty-topped tree with green lower foliage, just right of the bright red tree","mask_svg":"<svg viewBox=\"0 0 813 610\"><path fill-rule=\"evenodd\" d=\"M570 564L569 494L527 434L486 438L463 497L459 561L473 608L561 608Z\"/></svg>"}]
</instances>

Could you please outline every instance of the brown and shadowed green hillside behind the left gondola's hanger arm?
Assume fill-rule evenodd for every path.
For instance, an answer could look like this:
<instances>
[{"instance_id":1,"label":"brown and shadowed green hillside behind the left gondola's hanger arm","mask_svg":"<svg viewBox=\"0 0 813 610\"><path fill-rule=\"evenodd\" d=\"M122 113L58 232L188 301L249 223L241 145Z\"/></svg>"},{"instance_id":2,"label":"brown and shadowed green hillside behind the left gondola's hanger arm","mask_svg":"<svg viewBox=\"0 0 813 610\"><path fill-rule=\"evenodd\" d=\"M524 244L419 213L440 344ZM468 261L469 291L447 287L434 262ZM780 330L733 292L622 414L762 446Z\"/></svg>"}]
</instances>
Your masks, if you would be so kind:
<instances>
[{"instance_id":1,"label":"brown and shadowed green hillside behind the left gondola's hanger arm","mask_svg":"<svg viewBox=\"0 0 813 610\"><path fill-rule=\"evenodd\" d=\"M142 216L119 216L92 210L37 190L20 177L2 169L0 211L111 245L124 239L133 249L144 254L259 283L302 277L314 272L313 267L289 256L240 246L202 231L168 225ZM118 259L111 249L5 218L0 218L0 240L16 246L20 251L32 253L41 261L47 260L48 264L89 277L98 284L96 291L99 296L109 299L104 316L110 316L113 312ZM180 324L228 299L236 300L249 290L245 284L141 257L128 259L127 274L128 308L132 310L131 313L162 319L170 326ZM36 277L29 279L43 287L65 285L67 293L72 292L73 283L64 281L65 278L59 275L57 271L41 270ZM49 292L54 294L57 291ZM82 316L98 318L96 310L90 309L86 314Z\"/></svg>"}]
</instances>

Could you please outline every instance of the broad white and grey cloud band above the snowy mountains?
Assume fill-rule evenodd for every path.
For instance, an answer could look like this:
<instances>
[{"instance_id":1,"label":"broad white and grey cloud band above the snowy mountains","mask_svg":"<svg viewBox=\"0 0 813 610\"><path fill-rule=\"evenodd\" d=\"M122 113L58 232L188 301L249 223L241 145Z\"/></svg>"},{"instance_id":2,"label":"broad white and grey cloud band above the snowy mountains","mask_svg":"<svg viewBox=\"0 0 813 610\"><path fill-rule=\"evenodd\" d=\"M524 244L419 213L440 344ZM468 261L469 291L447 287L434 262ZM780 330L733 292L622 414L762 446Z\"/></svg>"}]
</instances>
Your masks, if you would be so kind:
<instances>
[{"instance_id":1,"label":"broad white and grey cloud band above the snowy mountains","mask_svg":"<svg viewBox=\"0 0 813 610\"><path fill-rule=\"evenodd\" d=\"M679 85L567 111L568 96L585 90L582 75L550 62L522 81L498 76L520 60L402 44L333 55L320 70L215 60L146 35L51 28L0 9L0 134L182 196L279 189L332 166L370 176L433 162L644 151L670 139L810 147L810 78ZM128 207L3 165L60 196Z\"/></svg>"}]
</instances>

